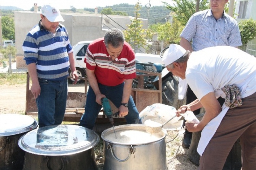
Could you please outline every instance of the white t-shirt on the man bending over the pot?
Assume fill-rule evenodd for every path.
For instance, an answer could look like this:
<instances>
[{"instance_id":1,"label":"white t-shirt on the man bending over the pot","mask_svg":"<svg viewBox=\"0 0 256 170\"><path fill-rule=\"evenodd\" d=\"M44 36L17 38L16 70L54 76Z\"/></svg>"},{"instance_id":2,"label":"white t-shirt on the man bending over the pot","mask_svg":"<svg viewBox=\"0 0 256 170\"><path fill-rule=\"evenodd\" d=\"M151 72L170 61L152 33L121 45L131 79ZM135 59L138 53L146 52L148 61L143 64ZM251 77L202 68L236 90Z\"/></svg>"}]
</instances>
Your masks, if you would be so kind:
<instances>
[{"instance_id":1,"label":"white t-shirt on the man bending over the pot","mask_svg":"<svg viewBox=\"0 0 256 170\"><path fill-rule=\"evenodd\" d=\"M218 98L221 88L233 84L240 88L244 98L256 92L256 58L229 46L192 52L186 81L199 100L213 91Z\"/></svg>"}]
</instances>

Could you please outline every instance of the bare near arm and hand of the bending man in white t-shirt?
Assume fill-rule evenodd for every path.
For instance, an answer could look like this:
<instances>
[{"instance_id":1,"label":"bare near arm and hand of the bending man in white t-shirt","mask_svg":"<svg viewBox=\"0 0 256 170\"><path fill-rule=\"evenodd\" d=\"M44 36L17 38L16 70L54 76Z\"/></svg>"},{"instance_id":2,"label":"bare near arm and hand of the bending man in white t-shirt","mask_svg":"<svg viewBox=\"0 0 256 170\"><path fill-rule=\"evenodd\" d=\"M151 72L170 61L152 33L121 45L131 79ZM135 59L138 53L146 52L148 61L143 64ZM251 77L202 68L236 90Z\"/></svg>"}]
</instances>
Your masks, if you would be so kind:
<instances>
[{"instance_id":1,"label":"bare near arm and hand of the bending man in white t-shirt","mask_svg":"<svg viewBox=\"0 0 256 170\"><path fill-rule=\"evenodd\" d=\"M214 92L210 92L203 96L200 102L204 106L206 113L199 124L186 123L187 130L190 132L197 132L204 129L206 124L218 116L222 110Z\"/></svg>"}]
</instances>

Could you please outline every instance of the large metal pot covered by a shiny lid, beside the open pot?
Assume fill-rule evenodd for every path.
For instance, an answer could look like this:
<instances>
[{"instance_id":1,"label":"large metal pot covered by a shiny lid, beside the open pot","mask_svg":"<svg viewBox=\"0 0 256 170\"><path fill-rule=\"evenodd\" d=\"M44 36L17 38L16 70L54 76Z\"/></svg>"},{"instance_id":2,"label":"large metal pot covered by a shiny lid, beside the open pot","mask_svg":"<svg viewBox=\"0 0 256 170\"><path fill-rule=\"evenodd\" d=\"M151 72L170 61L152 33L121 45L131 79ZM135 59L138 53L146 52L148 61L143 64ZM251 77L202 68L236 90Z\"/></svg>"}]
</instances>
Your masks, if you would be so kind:
<instances>
[{"instance_id":1,"label":"large metal pot covered by a shiny lid, beside the open pot","mask_svg":"<svg viewBox=\"0 0 256 170\"><path fill-rule=\"evenodd\" d=\"M93 147L99 136L78 125L52 125L22 136L23 170L97 170Z\"/></svg>"}]
</instances>

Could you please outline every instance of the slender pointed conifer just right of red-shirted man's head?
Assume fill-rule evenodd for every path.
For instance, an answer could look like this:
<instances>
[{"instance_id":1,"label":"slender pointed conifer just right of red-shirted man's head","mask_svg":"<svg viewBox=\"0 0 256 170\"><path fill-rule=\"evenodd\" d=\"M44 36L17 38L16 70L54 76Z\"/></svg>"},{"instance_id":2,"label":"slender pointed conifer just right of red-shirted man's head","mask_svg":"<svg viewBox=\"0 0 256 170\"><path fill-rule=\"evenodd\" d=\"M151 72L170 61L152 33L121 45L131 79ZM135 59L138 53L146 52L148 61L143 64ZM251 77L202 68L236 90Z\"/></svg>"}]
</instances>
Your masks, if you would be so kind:
<instances>
[{"instance_id":1,"label":"slender pointed conifer just right of red-shirted man's head","mask_svg":"<svg viewBox=\"0 0 256 170\"><path fill-rule=\"evenodd\" d=\"M141 6L137 2L135 5L135 18L131 20L131 25L128 25L127 30L124 31L125 39L132 47L140 48L146 44L146 30L142 29L142 20L140 17Z\"/></svg>"}]
</instances>

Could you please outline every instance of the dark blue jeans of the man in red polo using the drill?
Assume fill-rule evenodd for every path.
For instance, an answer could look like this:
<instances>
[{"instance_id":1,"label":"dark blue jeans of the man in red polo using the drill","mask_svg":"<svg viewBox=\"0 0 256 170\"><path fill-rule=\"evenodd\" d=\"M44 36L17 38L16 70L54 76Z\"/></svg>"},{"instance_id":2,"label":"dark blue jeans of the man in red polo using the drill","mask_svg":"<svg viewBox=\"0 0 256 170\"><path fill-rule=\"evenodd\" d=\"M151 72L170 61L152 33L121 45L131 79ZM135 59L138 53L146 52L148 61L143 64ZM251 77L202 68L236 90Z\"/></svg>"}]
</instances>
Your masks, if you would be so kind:
<instances>
[{"instance_id":1,"label":"dark blue jeans of the man in red polo using the drill","mask_svg":"<svg viewBox=\"0 0 256 170\"><path fill-rule=\"evenodd\" d=\"M124 83L121 83L117 86L105 86L98 83L98 86L100 88L100 93L106 95L106 97L111 102L113 102L115 107L119 108L121 106ZM93 129L96 118L102 108L102 105L98 104L95 101L96 95L90 86L86 97L85 114L81 117L79 124L80 126L88 129ZM130 96L128 101L128 115L125 116L125 119L127 124L142 123L132 96Z\"/></svg>"}]
</instances>

